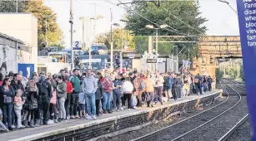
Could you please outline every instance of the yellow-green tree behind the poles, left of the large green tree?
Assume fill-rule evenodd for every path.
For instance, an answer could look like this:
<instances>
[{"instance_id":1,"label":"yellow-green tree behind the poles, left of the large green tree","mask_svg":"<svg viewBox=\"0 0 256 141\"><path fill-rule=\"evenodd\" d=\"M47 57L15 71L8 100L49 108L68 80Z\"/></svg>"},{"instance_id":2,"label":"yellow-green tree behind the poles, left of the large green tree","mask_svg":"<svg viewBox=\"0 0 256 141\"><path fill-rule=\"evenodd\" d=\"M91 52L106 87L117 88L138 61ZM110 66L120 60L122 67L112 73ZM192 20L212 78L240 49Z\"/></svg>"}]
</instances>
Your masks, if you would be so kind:
<instances>
[{"instance_id":1,"label":"yellow-green tree behind the poles, left of the large green tree","mask_svg":"<svg viewBox=\"0 0 256 141\"><path fill-rule=\"evenodd\" d=\"M133 42L133 36L130 34L131 32L127 32L121 28L116 28L113 30L113 49L121 50L122 49L122 33L123 33L123 49L125 46L125 42L128 41L128 49L133 50L135 48L135 44ZM111 43L111 34L110 32L102 33L99 36L96 36L95 41L98 43L104 43L108 49L110 49Z\"/></svg>"}]
</instances>

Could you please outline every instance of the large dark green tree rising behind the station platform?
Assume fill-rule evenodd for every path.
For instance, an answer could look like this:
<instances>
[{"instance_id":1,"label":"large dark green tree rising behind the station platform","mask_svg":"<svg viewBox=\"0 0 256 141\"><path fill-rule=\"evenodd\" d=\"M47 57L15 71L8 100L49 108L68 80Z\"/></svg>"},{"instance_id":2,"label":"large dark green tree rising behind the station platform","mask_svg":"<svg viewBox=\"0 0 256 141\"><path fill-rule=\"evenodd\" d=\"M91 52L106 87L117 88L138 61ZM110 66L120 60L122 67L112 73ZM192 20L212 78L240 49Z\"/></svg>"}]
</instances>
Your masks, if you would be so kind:
<instances>
[{"instance_id":1,"label":"large dark green tree rising behind the station platform","mask_svg":"<svg viewBox=\"0 0 256 141\"><path fill-rule=\"evenodd\" d=\"M201 12L198 11L198 8L198 5L194 4L194 2L161 1L160 7L153 2L138 2L133 4L131 8L127 8L127 14L124 16L123 22L126 22L126 28L133 31L135 36L154 36L155 30L147 28L146 25L158 27L163 24L167 24L168 27L158 30L158 35L160 36L200 35L207 30L206 27L202 26L207 20L200 17ZM150 19L158 26L143 17ZM169 53L169 51L173 50L174 44L166 46L161 44L158 44L158 52ZM175 45L178 46L179 51L185 46L179 56L180 61L188 58L188 47L190 48L190 58L198 55L196 43L175 43ZM138 47L140 46L136 46L138 51L143 50L138 49Z\"/></svg>"}]
</instances>

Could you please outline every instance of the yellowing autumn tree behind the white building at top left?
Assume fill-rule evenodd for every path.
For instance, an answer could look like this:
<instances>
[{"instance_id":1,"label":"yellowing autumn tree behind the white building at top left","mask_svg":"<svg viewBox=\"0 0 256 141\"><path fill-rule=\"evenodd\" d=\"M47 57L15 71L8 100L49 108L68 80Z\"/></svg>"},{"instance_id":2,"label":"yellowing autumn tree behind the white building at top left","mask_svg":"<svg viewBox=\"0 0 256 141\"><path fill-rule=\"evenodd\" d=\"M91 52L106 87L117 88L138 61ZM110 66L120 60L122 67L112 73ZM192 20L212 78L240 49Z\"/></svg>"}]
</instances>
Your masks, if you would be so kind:
<instances>
[{"instance_id":1,"label":"yellowing autumn tree behind the white building at top left","mask_svg":"<svg viewBox=\"0 0 256 141\"><path fill-rule=\"evenodd\" d=\"M16 1L0 2L0 7L0 12L16 12ZM43 5L42 0L18 2L18 12L32 13L38 17L38 48L42 47L44 42L48 42L47 46L63 46L63 32L58 27L57 16L50 7Z\"/></svg>"}]
</instances>

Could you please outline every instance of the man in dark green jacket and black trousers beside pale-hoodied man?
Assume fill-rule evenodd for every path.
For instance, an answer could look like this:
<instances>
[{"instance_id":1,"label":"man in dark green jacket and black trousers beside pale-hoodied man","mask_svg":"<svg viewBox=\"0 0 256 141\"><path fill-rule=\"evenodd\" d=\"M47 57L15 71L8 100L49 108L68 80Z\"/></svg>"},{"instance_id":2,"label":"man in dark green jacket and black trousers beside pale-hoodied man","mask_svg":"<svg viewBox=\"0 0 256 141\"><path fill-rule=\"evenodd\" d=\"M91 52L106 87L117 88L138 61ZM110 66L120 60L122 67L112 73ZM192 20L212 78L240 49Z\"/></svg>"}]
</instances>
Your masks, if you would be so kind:
<instances>
[{"instance_id":1,"label":"man in dark green jacket and black trousers beside pale-hoodied man","mask_svg":"<svg viewBox=\"0 0 256 141\"><path fill-rule=\"evenodd\" d=\"M78 77L78 69L73 70L73 75L70 77L70 82L73 85L73 91L70 99L70 118L75 119L78 118L79 115L77 115L78 111L78 94L81 90L80 80Z\"/></svg>"}]
</instances>

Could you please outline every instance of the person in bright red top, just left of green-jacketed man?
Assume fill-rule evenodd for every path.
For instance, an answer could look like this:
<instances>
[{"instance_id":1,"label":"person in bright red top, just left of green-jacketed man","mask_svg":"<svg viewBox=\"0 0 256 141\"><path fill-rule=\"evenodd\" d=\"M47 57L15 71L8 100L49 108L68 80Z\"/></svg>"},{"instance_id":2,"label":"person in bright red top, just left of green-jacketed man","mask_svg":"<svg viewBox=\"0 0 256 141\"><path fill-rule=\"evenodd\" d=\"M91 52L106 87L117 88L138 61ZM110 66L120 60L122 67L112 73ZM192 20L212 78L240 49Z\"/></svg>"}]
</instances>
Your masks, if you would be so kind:
<instances>
[{"instance_id":1,"label":"person in bright red top, just left of green-jacketed man","mask_svg":"<svg viewBox=\"0 0 256 141\"><path fill-rule=\"evenodd\" d=\"M67 116L66 119L69 120L70 119L70 115L69 115L70 97L73 91L73 85L69 81L68 75L65 76L65 80L67 82L67 100L65 101L65 109L66 109L66 116Z\"/></svg>"}]
</instances>

